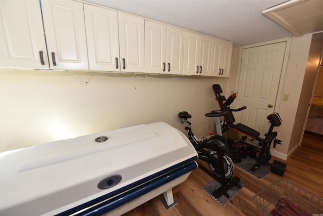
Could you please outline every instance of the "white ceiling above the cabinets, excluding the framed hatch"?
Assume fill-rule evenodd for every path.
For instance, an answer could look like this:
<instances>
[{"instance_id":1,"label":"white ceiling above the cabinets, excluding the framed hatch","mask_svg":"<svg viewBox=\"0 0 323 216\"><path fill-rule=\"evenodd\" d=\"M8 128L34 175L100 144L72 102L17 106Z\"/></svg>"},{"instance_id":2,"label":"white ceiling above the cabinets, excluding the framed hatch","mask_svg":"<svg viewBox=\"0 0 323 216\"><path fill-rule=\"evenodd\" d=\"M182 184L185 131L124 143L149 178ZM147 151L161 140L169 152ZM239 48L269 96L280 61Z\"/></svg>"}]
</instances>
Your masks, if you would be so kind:
<instances>
[{"instance_id":1,"label":"white ceiling above the cabinets, excluding the framed hatch","mask_svg":"<svg viewBox=\"0 0 323 216\"><path fill-rule=\"evenodd\" d=\"M86 1L230 40L234 47L293 36L262 15L262 11L287 0Z\"/></svg>"}]
</instances>

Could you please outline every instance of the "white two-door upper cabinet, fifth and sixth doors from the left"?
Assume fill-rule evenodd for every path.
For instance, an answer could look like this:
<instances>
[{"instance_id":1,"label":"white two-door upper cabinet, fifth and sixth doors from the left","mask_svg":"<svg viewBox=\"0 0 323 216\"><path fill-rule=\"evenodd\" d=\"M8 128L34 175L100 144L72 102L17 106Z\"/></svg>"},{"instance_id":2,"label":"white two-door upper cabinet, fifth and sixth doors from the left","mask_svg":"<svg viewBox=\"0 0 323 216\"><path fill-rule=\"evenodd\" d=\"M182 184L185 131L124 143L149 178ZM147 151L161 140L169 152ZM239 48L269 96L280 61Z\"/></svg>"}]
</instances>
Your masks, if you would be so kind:
<instances>
[{"instance_id":1,"label":"white two-door upper cabinet, fifth and sixth doors from the left","mask_svg":"<svg viewBox=\"0 0 323 216\"><path fill-rule=\"evenodd\" d=\"M145 21L146 72L183 74L184 31Z\"/></svg>"}]
</instances>

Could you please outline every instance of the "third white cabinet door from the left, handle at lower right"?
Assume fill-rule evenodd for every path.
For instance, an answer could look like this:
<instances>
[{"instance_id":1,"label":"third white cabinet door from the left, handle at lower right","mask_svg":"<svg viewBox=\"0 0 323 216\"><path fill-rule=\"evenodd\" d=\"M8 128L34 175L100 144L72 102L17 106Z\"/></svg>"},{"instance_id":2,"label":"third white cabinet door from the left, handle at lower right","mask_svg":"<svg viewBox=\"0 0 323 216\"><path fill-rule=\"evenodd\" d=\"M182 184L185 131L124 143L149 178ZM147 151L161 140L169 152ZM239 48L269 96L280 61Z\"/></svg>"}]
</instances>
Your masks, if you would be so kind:
<instances>
[{"instance_id":1,"label":"third white cabinet door from the left, handle at lower right","mask_svg":"<svg viewBox=\"0 0 323 216\"><path fill-rule=\"evenodd\" d=\"M120 71L118 13L84 5L89 69Z\"/></svg>"}]
</instances>

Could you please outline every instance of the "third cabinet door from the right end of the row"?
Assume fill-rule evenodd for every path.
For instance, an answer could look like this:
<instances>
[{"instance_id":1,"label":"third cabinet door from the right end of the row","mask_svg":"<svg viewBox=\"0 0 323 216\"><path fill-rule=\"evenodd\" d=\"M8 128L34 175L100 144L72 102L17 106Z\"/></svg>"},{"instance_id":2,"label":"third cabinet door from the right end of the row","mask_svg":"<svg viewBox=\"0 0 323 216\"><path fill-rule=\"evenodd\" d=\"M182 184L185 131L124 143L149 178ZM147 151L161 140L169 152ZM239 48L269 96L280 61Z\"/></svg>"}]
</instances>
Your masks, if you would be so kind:
<instances>
[{"instance_id":1,"label":"third cabinet door from the right end of the row","mask_svg":"<svg viewBox=\"0 0 323 216\"><path fill-rule=\"evenodd\" d=\"M199 74L204 76L210 75L211 67L212 38L201 36L200 49L200 70Z\"/></svg>"}]
</instances>

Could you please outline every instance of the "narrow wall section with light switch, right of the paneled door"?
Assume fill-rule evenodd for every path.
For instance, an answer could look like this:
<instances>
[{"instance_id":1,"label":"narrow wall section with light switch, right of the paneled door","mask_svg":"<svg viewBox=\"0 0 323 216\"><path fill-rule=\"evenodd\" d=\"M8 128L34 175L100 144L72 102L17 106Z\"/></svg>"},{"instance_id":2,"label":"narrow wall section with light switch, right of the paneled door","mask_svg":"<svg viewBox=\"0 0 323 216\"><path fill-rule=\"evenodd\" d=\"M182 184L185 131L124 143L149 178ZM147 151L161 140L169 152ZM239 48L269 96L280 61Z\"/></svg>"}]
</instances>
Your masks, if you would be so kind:
<instances>
[{"instance_id":1,"label":"narrow wall section with light switch, right of the paneled door","mask_svg":"<svg viewBox=\"0 0 323 216\"><path fill-rule=\"evenodd\" d=\"M312 34L292 37L290 57L282 91L282 94L289 94L289 98L288 101L281 101L278 110L283 120L279 139L283 140L284 145L278 146L277 149L287 156L300 145L302 139L303 127L305 124L303 115L306 116L308 102L304 102L302 99L304 96L301 97L301 94L305 72L308 67L307 61L309 58L311 41ZM316 68L317 66L318 61ZM313 89L313 83L309 88ZM310 99L310 95L307 95L306 97L308 100ZM300 112L301 109L299 107L304 106L306 107L306 110Z\"/></svg>"}]
</instances>

